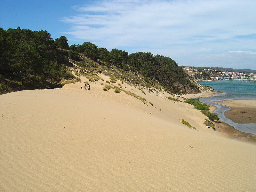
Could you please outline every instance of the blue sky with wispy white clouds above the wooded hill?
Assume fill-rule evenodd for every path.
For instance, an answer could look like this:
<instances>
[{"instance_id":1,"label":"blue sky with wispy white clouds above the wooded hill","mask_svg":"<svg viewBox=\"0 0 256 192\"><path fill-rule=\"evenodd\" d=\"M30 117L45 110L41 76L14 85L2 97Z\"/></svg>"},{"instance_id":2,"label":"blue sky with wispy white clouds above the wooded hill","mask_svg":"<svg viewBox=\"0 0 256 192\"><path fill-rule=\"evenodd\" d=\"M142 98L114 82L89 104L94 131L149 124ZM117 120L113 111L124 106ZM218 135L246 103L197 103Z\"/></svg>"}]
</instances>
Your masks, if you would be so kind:
<instances>
[{"instance_id":1,"label":"blue sky with wispy white clouds above the wooded hill","mask_svg":"<svg viewBox=\"0 0 256 192\"><path fill-rule=\"evenodd\" d=\"M69 45L256 69L256 0L1 0L0 27L46 30Z\"/></svg>"}]
</instances>

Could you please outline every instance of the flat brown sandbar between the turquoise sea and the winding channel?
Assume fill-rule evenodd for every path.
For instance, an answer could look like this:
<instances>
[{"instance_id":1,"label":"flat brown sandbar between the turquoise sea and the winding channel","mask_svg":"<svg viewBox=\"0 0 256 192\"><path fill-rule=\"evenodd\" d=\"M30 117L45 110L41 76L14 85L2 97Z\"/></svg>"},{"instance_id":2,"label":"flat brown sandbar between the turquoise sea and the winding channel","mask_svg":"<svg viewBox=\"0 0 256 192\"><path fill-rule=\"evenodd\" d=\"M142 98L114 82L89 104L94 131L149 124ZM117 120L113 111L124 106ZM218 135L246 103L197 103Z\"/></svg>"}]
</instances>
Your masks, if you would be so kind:
<instances>
[{"instance_id":1,"label":"flat brown sandbar between the turquoise sea and the winding channel","mask_svg":"<svg viewBox=\"0 0 256 192\"><path fill-rule=\"evenodd\" d=\"M256 123L256 100L212 101L230 107L224 115L235 123Z\"/></svg>"}]
</instances>

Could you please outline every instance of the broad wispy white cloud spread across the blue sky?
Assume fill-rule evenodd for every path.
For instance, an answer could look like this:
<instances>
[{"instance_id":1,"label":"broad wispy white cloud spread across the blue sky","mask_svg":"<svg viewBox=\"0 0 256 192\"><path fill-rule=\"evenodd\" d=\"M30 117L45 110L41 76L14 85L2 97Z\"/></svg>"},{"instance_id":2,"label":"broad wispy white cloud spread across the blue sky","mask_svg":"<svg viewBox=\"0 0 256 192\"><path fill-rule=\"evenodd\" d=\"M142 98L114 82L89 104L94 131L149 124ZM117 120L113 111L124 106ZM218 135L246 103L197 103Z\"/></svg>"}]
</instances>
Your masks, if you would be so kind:
<instances>
[{"instance_id":1,"label":"broad wispy white cloud spread across the blue sky","mask_svg":"<svg viewBox=\"0 0 256 192\"><path fill-rule=\"evenodd\" d=\"M99 0L73 9L62 19L71 25L65 33L107 49L163 54L183 65L196 65L195 55L255 50L254 0Z\"/></svg>"}]
</instances>

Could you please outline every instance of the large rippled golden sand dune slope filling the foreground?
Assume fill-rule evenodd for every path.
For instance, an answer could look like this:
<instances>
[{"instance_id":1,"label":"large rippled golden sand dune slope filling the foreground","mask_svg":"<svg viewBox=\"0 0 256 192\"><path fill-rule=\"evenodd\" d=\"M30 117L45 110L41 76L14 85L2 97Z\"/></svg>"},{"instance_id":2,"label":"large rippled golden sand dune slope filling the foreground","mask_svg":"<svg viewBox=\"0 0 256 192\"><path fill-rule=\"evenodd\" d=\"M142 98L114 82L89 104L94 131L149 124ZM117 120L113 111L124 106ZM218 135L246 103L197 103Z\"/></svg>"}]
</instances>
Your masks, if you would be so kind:
<instances>
[{"instance_id":1,"label":"large rippled golden sand dune slope filling the foreground","mask_svg":"<svg viewBox=\"0 0 256 192\"><path fill-rule=\"evenodd\" d=\"M255 145L218 136L167 93L124 83L153 107L101 82L0 95L0 191L256 190Z\"/></svg>"}]
</instances>

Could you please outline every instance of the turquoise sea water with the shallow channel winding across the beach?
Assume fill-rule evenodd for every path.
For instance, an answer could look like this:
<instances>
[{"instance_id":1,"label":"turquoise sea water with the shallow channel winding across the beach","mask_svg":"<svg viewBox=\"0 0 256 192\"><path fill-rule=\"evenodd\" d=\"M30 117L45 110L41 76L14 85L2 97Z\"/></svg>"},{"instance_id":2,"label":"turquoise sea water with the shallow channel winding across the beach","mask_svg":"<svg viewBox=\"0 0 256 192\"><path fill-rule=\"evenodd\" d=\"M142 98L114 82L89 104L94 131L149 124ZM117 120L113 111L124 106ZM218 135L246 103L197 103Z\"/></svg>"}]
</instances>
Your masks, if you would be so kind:
<instances>
[{"instance_id":1,"label":"turquoise sea water with the shallow channel winding across the beach","mask_svg":"<svg viewBox=\"0 0 256 192\"><path fill-rule=\"evenodd\" d=\"M217 107L214 113L217 113L220 120L233 126L235 129L256 134L256 124L238 124L224 116L224 112L231 108L213 103L212 101L234 100L234 99L250 99L256 100L256 81L251 80L222 80L222 81L207 81L198 82L202 85L210 86L215 91L221 91L228 94L215 94L211 97L201 97L200 101L203 103L211 104ZM256 115L256 114L255 114Z\"/></svg>"}]
</instances>

